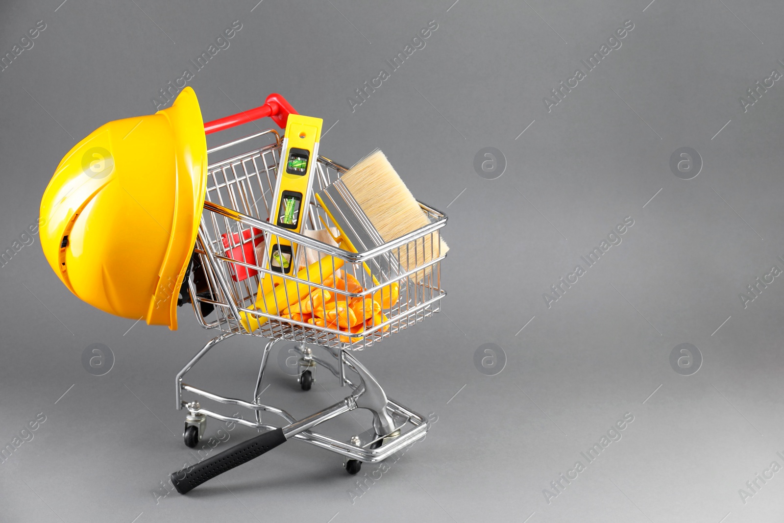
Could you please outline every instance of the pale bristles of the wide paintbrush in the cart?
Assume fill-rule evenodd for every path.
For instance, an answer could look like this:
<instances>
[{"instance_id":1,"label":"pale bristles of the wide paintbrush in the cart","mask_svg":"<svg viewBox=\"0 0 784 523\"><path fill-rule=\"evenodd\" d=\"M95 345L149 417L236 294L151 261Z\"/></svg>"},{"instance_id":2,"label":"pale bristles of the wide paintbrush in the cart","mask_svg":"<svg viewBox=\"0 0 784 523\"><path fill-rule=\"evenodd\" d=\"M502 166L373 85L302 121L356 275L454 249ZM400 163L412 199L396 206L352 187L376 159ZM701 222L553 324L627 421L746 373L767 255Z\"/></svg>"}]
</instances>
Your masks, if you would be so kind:
<instances>
[{"instance_id":1,"label":"pale bristles of the wide paintbrush in the cart","mask_svg":"<svg viewBox=\"0 0 784 523\"><path fill-rule=\"evenodd\" d=\"M361 159L340 177L384 242L424 227L430 220L382 151ZM397 250L397 249L396 249ZM400 248L406 271L443 256L449 250L438 232ZM420 271L423 273L423 271ZM421 280L424 274L417 274Z\"/></svg>"}]
</instances>

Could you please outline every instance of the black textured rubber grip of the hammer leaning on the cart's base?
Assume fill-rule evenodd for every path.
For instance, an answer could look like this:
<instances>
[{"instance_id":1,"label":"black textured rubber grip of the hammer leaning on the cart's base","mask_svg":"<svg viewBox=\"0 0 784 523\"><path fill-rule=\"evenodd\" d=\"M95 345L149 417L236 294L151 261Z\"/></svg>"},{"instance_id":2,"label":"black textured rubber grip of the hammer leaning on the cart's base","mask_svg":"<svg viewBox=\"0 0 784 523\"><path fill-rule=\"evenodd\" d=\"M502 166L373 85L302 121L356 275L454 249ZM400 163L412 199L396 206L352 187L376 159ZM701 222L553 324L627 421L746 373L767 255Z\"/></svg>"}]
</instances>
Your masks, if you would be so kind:
<instances>
[{"instance_id":1,"label":"black textured rubber grip of the hammer leaning on the cart's base","mask_svg":"<svg viewBox=\"0 0 784 523\"><path fill-rule=\"evenodd\" d=\"M177 492L185 494L205 481L223 474L227 470L247 463L251 459L261 456L264 452L274 449L286 441L283 429L268 430L259 434L256 438L250 438L234 445L231 449L224 450L220 454L209 457L195 464L178 470L172 474L172 484Z\"/></svg>"}]
</instances>

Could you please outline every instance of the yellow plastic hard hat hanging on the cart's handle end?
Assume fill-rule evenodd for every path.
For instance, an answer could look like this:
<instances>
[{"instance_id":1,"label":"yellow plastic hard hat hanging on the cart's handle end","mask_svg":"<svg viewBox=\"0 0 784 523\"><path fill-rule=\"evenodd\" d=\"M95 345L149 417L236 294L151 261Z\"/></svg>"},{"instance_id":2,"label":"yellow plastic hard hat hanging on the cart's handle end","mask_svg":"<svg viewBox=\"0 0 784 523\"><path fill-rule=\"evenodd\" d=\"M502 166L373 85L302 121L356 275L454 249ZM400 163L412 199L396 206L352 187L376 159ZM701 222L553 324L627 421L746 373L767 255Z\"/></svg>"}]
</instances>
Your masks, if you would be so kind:
<instances>
[{"instance_id":1,"label":"yellow plastic hard hat hanging on the cart's handle end","mask_svg":"<svg viewBox=\"0 0 784 523\"><path fill-rule=\"evenodd\" d=\"M65 155L46 187L46 260L101 311L175 330L206 174L204 122L191 87L168 109L100 126Z\"/></svg>"}]
</instances>

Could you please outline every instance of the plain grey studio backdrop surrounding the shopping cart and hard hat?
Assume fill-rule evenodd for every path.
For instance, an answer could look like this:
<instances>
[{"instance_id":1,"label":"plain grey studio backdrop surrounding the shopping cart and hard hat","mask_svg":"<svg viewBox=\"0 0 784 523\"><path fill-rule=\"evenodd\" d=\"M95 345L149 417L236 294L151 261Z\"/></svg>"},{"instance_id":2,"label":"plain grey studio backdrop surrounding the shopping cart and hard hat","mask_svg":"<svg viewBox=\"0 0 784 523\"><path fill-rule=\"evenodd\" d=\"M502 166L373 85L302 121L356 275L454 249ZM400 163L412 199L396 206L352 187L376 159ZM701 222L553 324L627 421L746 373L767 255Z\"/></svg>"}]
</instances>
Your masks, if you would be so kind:
<instances>
[{"instance_id":1,"label":"plain grey studio backdrop surrounding the shopping cart and hard hat","mask_svg":"<svg viewBox=\"0 0 784 523\"><path fill-rule=\"evenodd\" d=\"M77 140L153 112L233 20L230 48L190 82L205 120L282 93L337 122L321 142L330 158L382 148L448 213L452 248L445 314L361 354L392 398L438 416L364 496L351 503L356 478L336 455L293 441L156 503L189 456L174 376L211 332L185 309L169 332L89 307L36 239L0 268L0 444L46 416L0 464L2 521L781 521L784 472L746 503L739 489L784 465L784 283L746 309L739 292L784 268L784 98L777 82L744 113L739 96L784 72L784 6L452 1L2 2L0 53L47 24L0 73L2 249ZM425 49L352 113L347 97L430 20ZM622 47L548 114L543 96L624 20ZM474 172L481 147L505 155L499 179ZM693 180L670 172L679 147L702 156ZM626 216L621 245L548 309L543 292ZM82 368L91 343L114 352L105 376ZM506 353L496 376L474 368L484 343ZM692 376L670 367L680 343L702 353ZM248 397L260 348L231 340L191 380ZM301 393L274 365L269 376L267 401L297 416L343 393L323 377ZM625 412L622 439L547 503L543 489ZM369 427L344 418L342 434ZM219 449L255 433L230 434Z\"/></svg>"}]
</instances>

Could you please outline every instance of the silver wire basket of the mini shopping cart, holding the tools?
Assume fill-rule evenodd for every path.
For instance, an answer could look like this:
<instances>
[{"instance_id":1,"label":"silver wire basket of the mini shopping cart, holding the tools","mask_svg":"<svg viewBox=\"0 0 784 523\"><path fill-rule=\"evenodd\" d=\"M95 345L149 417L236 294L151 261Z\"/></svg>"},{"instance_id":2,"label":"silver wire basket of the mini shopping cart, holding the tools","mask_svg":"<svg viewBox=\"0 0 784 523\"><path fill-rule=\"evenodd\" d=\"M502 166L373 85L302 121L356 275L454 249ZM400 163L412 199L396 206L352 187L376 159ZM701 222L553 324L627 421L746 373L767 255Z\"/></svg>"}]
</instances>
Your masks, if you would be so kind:
<instances>
[{"instance_id":1,"label":"silver wire basket of the mini shopping cart, holding the tools","mask_svg":"<svg viewBox=\"0 0 784 523\"><path fill-rule=\"evenodd\" d=\"M206 202L195 249L206 285L198 289L197 281L189 281L194 311L201 325L223 332L361 350L416 321L429 318L439 310L439 302L445 296L441 289L441 260L445 255L439 252L441 227L446 223L443 213L420 202L430 219L429 225L371 251L347 252L312 238L312 234L296 234L267 221L280 159L281 136L274 129L269 129L214 147L208 152L212 155L220 151L236 151L242 144L254 144L256 147L208 167ZM314 181L318 188L314 192L346 171L343 165L320 156ZM315 198L311 198L309 205L308 231L323 231L332 225ZM256 247L263 238L285 238L300 245L292 263L298 271L305 271L306 277L303 278L301 272L298 275L297 271L290 275L271 271L261 256L255 256ZM425 252L433 254L426 258ZM361 284L360 292L339 292L339 300L345 302L346 308L355 298L378 298L387 293L394 296L395 288L399 300L383 303L386 307L382 308L380 315L371 315L363 310L364 315L360 318L363 328L360 332L350 333L339 329L339 322L332 327L320 326L296 318L296 314L281 318L279 314L256 309L257 301L265 300L259 290L265 275L296 282L303 296L309 296L317 289L335 292L334 288L310 279L308 266L323 256L339 260L343 273L350 274ZM325 276L320 275L318 281ZM274 307L264 308L267 311L292 311L302 305L303 300L299 296L286 298L286 303L279 303L281 300L273 297L274 303L268 305ZM295 307L290 307L292 305ZM204 311L209 311L209 306L214 309L212 316L204 314Z\"/></svg>"}]
</instances>

